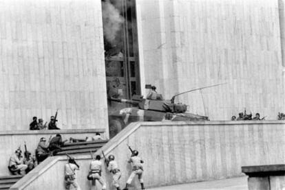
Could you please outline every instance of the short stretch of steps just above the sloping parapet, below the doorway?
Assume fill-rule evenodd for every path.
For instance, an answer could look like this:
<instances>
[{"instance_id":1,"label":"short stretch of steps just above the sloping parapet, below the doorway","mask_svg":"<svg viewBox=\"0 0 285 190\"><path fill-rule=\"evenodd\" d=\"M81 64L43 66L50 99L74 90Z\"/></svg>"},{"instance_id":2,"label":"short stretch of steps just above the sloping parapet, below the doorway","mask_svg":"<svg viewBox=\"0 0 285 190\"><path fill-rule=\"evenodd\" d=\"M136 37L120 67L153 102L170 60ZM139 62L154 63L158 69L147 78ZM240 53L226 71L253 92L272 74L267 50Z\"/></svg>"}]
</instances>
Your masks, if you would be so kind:
<instances>
[{"instance_id":1,"label":"short stretch of steps just above the sloping parapet, below the doorway","mask_svg":"<svg viewBox=\"0 0 285 190\"><path fill-rule=\"evenodd\" d=\"M96 152L96 150L103 147L107 142L108 140L65 143L56 156L62 156L64 154L84 154L89 153L90 151Z\"/></svg>"}]
</instances>

